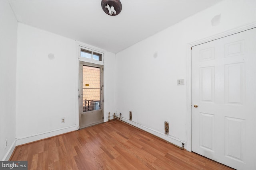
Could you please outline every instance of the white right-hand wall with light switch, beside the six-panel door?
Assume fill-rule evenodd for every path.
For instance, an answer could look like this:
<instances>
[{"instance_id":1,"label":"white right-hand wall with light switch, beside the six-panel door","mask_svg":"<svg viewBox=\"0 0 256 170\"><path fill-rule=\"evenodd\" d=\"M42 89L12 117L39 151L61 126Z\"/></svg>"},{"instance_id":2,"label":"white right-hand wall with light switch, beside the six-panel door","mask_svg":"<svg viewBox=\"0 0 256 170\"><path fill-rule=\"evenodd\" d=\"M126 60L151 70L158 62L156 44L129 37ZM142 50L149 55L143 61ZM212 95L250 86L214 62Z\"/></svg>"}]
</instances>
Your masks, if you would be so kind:
<instances>
[{"instance_id":1,"label":"white right-hand wall with light switch, beside the six-panel door","mask_svg":"<svg viewBox=\"0 0 256 170\"><path fill-rule=\"evenodd\" d=\"M256 21L256 1L224 1L116 54L116 108L131 124L176 145L186 134L188 44ZM212 18L221 15L212 26ZM164 121L170 125L164 134ZM190 133L190 132L188 132ZM185 146L186 147L186 146Z\"/></svg>"}]
</instances>

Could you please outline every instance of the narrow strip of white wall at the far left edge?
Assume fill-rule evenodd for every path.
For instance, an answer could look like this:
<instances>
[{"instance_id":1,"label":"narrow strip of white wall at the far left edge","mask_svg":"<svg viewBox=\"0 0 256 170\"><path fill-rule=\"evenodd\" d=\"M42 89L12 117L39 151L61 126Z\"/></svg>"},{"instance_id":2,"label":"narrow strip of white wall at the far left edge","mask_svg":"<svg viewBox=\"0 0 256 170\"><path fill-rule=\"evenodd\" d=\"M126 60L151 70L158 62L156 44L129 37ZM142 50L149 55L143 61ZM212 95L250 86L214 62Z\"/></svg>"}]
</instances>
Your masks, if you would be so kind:
<instances>
[{"instance_id":1,"label":"narrow strip of white wall at the far left edge","mask_svg":"<svg viewBox=\"0 0 256 170\"><path fill-rule=\"evenodd\" d=\"M17 59L17 20L8 1L0 1L0 25L0 160L8 160L15 147Z\"/></svg>"}]
</instances>

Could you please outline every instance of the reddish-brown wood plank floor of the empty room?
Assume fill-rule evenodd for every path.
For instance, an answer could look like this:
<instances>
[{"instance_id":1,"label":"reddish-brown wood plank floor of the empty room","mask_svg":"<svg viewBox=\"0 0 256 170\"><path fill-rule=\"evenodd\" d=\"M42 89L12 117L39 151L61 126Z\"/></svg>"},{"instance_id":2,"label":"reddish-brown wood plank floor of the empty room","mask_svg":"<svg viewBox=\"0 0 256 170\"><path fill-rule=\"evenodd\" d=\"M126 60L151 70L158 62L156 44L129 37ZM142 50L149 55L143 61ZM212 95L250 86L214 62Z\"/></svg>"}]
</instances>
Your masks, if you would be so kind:
<instances>
[{"instance_id":1,"label":"reddish-brown wood plank floor of the empty room","mask_svg":"<svg viewBox=\"0 0 256 170\"><path fill-rule=\"evenodd\" d=\"M122 121L18 146L10 160L29 170L231 170Z\"/></svg>"}]
</instances>

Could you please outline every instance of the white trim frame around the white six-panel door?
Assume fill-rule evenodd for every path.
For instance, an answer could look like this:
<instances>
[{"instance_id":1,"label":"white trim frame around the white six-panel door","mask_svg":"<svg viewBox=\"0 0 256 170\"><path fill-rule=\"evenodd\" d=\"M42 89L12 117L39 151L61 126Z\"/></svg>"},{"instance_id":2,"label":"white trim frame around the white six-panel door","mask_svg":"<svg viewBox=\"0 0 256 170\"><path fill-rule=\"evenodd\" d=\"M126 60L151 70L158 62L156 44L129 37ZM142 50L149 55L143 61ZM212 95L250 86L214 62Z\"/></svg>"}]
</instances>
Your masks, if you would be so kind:
<instances>
[{"instance_id":1,"label":"white trim frame around the white six-panel door","mask_svg":"<svg viewBox=\"0 0 256 170\"><path fill-rule=\"evenodd\" d=\"M246 31L256 27L256 22L243 25L216 35L207 37L205 39L199 39L197 41L187 43L187 57L186 57L186 150L192 151L192 47L195 45L200 45L202 43L207 43L216 39L220 39L235 33ZM255 129L256 130L256 129Z\"/></svg>"}]
</instances>

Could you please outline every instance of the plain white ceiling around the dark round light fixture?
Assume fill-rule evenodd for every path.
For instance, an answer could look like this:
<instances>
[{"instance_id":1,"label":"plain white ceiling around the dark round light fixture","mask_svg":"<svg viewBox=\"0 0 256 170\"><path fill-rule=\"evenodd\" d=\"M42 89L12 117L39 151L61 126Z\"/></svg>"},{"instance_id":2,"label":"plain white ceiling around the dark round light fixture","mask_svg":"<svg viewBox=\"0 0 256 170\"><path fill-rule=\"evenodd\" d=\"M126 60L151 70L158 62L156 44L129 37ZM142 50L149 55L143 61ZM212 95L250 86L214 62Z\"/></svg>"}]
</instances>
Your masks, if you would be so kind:
<instances>
[{"instance_id":1,"label":"plain white ceiling around the dark round light fixture","mask_svg":"<svg viewBox=\"0 0 256 170\"><path fill-rule=\"evenodd\" d=\"M109 16L101 0L9 0L19 22L117 53L220 0L120 0Z\"/></svg>"}]
</instances>

